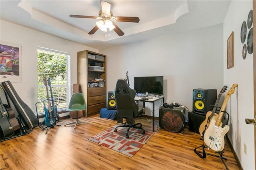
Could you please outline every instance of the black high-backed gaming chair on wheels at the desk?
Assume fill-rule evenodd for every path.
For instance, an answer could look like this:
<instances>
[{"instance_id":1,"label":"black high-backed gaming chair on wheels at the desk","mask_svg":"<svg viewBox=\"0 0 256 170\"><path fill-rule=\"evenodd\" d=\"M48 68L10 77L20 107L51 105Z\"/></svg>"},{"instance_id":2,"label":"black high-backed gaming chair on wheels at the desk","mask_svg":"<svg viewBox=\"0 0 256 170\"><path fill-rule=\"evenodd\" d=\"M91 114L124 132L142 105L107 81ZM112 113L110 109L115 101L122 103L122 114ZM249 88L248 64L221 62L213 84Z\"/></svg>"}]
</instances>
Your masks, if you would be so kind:
<instances>
[{"instance_id":1,"label":"black high-backed gaming chair on wheels at the desk","mask_svg":"<svg viewBox=\"0 0 256 170\"><path fill-rule=\"evenodd\" d=\"M142 130L142 134L145 134L145 130L142 128L141 123L134 123L134 117L138 117L143 112L143 108L139 108L134 101L136 91L131 89L126 83L125 79L118 79L116 82L116 88L114 89L114 97L116 100L117 109L117 122L124 125L115 128L115 132L119 127L129 127L126 132L126 138L129 138L130 128L138 128ZM126 120L123 123L123 119Z\"/></svg>"}]
</instances>

